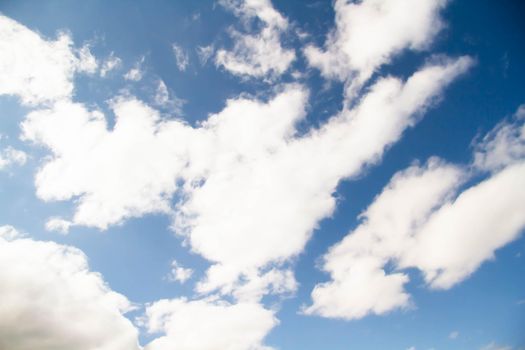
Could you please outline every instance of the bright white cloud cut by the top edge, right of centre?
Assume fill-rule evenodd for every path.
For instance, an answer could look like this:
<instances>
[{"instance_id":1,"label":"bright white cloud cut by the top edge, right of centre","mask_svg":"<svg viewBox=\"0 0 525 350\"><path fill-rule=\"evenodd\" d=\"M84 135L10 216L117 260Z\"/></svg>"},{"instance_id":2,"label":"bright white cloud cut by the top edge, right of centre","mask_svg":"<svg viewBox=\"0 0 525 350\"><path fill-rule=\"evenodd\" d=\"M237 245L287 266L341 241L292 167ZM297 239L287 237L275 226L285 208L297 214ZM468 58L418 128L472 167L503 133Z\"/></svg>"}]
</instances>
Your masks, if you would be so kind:
<instances>
[{"instance_id":1,"label":"bright white cloud cut by the top edge, right of centre","mask_svg":"<svg viewBox=\"0 0 525 350\"><path fill-rule=\"evenodd\" d=\"M326 78L349 81L350 94L404 49L429 46L443 27L446 0L336 0L335 28L325 49L308 46L311 66Z\"/></svg>"}]
</instances>

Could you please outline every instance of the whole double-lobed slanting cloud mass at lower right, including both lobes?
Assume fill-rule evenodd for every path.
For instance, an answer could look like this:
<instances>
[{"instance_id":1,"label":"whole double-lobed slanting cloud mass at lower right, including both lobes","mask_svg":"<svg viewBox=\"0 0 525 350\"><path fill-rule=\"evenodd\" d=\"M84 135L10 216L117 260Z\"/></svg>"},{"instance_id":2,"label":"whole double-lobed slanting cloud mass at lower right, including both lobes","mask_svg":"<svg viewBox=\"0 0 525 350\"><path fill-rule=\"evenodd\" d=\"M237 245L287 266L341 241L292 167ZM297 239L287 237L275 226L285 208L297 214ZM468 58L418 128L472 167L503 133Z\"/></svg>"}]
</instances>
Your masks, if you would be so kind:
<instances>
[{"instance_id":1,"label":"whole double-lobed slanting cloud mass at lower right, including both lobes","mask_svg":"<svg viewBox=\"0 0 525 350\"><path fill-rule=\"evenodd\" d=\"M521 128L500 124L480 147ZM459 194L458 186L469 177L455 166L431 160L396 174L362 214L359 227L325 255L331 280L315 287L313 304L304 311L354 319L405 307L408 276L401 270L417 268L429 287L448 289L516 239L525 228L524 157L488 150L494 164L506 166ZM506 150L516 154L516 148ZM387 274L389 263L395 268Z\"/></svg>"}]
</instances>

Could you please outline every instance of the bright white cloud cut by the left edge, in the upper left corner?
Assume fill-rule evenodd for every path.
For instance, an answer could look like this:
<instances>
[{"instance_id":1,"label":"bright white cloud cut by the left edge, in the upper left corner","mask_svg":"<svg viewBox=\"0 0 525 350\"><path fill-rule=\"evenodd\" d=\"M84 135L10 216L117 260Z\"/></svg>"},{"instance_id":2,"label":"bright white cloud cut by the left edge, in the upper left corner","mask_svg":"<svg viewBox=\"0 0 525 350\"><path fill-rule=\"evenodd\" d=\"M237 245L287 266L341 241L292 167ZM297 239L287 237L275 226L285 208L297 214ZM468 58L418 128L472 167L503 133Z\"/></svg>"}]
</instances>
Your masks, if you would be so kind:
<instances>
[{"instance_id":1,"label":"bright white cloud cut by the left edge, in the upper left corner","mask_svg":"<svg viewBox=\"0 0 525 350\"><path fill-rule=\"evenodd\" d=\"M18 96L26 105L69 98L74 74L96 69L89 47L74 49L69 35L46 40L0 15L0 95Z\"/></svg>"}]
</instances>

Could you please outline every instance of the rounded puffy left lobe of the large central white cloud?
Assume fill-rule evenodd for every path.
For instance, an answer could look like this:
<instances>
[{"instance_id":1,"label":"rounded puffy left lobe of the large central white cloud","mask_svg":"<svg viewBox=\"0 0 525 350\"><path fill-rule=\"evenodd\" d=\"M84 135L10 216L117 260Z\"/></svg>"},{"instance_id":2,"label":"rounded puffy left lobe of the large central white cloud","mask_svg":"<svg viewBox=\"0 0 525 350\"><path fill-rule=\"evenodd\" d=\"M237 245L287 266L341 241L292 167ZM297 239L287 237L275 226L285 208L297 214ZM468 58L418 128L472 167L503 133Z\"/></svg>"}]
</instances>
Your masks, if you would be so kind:
<instances>
[{"instance_id":1,"label":"rounded puffy left lobe of the large central white cloud","mask_svg":"<svg viewBox=\"0 0 525 350\"><path fill-rule=\"evenodd\" d=\"M145 213L170 212L176 174L184 164L185 126L161 122L135 99L116 100L112 131L104 116L61 101L31 112L23 137L49 147L54 159L36 177L43 200L80 196L75 224L107 228ZM179 137L181 136L181 137Z\"/></svg>"}]
</instances>

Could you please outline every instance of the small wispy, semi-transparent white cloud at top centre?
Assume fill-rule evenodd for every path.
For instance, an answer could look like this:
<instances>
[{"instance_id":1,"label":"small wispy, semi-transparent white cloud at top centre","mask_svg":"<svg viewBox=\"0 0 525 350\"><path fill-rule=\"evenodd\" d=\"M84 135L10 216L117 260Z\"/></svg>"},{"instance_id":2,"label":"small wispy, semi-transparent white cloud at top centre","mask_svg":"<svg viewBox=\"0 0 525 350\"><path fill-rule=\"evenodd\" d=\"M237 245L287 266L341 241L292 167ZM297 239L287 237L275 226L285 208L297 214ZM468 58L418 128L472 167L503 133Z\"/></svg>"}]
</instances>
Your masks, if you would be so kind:
<instances>
[{"instance_id":1,"label":"small wispy, semi-transparent white cloud at top centre","mask_svg":"<svg viewBox=\"0 0 525 350\"><path fill-rule=\"evenodd\" d=\"M288 20L274 9L270 0L220 0L244 22L260 21L254 34L231 30L235 42L231 50L219 49L215 63L230 73L243 77L272 78L283 74L295 60L295 52L281 45L281 35Z\"/></svg>"}]
</instances>

